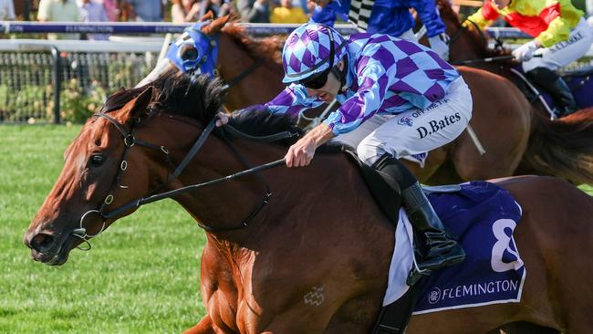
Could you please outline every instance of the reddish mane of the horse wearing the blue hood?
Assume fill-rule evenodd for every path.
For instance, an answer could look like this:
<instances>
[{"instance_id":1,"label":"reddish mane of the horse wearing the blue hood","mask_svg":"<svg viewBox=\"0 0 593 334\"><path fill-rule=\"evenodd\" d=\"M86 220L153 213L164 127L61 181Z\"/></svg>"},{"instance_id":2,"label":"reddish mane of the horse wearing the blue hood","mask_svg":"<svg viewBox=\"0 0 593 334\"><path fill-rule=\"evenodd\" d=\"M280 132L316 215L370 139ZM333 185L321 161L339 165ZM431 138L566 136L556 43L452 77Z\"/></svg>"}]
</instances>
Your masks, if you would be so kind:
<instances>
[{"instance_id":1,"label":"reddish mane of the horse wearing the blue hood","mask_svg":"<svg viewBox=\"0 0 593 334\"><path fill-rule=\"evenodd\" d=\"M224 26L222 31L231 37L239 47L244 48L249 56L263 57L264 60L282 64L282 47L284 46L282 37L270 36L254 39L247 35L243 26L233 24Z\"/></svg>"}]
</instances>

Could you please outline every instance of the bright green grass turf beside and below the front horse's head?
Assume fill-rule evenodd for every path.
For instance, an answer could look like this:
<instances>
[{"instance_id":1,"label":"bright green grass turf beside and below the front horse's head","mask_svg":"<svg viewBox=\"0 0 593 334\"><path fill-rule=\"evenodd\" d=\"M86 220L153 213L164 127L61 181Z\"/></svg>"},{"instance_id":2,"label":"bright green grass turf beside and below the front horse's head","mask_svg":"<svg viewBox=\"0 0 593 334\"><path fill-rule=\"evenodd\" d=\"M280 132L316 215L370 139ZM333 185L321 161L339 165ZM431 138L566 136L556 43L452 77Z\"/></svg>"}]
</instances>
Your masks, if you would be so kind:
<instances>
[{"instance_id":1,"label":"bright green grass turf beside and below the front horse's head","mask_svg":"<svg viewBox=\"0 0 593 334\"><path fill-rule=\"evenodd\" d=\"M0 125L0 333L178 333L202 317L203 231L172 201L146 205L72 251L33 262L22 236L79 126ZM593 188L584 187L589 193Z\"/></svg>"}]
</instances>

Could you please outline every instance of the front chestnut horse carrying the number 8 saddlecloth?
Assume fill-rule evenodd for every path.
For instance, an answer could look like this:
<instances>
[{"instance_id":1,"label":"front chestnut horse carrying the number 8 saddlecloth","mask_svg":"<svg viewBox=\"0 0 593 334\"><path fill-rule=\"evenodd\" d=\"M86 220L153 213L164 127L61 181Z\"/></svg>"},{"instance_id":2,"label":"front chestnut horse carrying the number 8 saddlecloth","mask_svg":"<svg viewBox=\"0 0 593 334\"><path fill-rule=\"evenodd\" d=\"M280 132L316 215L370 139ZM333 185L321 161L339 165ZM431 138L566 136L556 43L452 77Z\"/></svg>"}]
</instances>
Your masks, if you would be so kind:
<instances>
[{"instance_id":1,"label":"front chestnut horse carrying the number 8 saddlecloth","mask_svg":"<svg viewBox=\"0 0 593 334\"><path fill-rule=\"evenodd\" d=\"M224 128L209 135L219 94L216 81L169 72L108 99L69 145L26 231L33 258L63 265L71 249L140 204L171 197L207 235L207 313L189 333L369 333L387 285L394 228L358 168L346 154L327 152L307 168L288 169L278 159L289 142L229 140ZM230 124L252 136L294 130L267 112ZM264 167L225 177L246 162ZM527 270L521 301L413 316L408 333L485 333L515 322L588 333L593 199L552 177L494 183L523 209L515 229ZM307 302L313 293L317 302Z\"/></svg>"}]
</instances>

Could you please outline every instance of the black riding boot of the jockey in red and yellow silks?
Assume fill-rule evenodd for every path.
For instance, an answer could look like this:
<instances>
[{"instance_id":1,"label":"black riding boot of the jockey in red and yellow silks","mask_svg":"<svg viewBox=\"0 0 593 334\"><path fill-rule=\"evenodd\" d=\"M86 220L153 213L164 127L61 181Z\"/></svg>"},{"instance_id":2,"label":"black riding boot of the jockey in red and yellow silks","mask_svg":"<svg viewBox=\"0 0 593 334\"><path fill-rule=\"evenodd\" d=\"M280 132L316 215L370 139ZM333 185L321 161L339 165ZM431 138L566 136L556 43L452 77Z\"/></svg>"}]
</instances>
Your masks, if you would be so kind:
<instances>
[{"instance_id":1,"label":"black riding boot of the jockey in red and yellow silks","mask_svg":"<svg viewBox=\"0 0 593 334\"><path fill-rule=\"evenodd\" d=\"M550 94L558 107L553 110L553 118L568 116L578 110L577 101L567 82L549 68L534 68L526 73L527 78Z\"/></svg>"}]
</instances>

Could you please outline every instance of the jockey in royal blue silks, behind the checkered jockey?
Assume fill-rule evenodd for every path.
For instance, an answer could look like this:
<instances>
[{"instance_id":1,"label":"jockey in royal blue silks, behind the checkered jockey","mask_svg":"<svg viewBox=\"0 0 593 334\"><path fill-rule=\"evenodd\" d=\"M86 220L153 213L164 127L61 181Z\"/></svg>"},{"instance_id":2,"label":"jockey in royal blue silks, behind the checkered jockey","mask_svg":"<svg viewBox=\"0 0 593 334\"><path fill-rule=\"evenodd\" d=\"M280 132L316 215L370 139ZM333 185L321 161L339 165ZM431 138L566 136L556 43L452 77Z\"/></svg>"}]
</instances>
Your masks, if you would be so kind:
<instances>
[{"instance_id":1,"label":"jockey in royal blue silks, behind the checkered jockey","mask_svg":"<svg viewBox=\"0 0 593 334\"><path fill-rule=\"evenodd\" d=\"M322 23L333 26L336 18L348 22L348 13L351 13L350 2L359 0L310 0L321 8L311 16L311 22ZM365 1L365 4L369 0ZM410 8L414 8L420 16L422 23L426 26L429 44L440 57L449 58L449 37L445 34L445 26L442 23L439 11L436 10L433 0L376 0L372 5L369 17L362 13L352 21L359 28L369 34L385 34L392 37L418 40L414 36L412 27L414 18L411 16Z\"/></svg>"}]
</instances>

